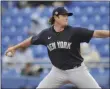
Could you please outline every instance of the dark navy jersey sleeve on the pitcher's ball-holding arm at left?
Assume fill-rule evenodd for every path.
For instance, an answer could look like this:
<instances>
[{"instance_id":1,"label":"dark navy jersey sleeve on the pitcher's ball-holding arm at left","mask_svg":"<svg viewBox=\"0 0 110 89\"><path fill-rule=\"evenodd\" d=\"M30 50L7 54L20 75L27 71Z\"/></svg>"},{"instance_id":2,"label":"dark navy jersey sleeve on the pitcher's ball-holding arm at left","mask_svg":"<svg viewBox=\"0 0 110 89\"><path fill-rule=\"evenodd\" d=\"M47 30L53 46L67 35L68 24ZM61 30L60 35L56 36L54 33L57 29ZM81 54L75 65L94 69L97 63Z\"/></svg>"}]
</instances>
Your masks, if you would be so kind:
<instances>
[{"instance_id":1,"label":"dark navy jersey sleeve on the pitcher's ball-holding arm at left","mask_svg":"<svg viewBox=\"0 0 110 89\"><path fill-rule=\"evenodd\" d=\"M32 45L44 45L45 42L44 42L44 31L40 32L39 34L37 35L34 35L32 36L32 39L31 39L31 44Z\"/></svg>"}]
</instances>

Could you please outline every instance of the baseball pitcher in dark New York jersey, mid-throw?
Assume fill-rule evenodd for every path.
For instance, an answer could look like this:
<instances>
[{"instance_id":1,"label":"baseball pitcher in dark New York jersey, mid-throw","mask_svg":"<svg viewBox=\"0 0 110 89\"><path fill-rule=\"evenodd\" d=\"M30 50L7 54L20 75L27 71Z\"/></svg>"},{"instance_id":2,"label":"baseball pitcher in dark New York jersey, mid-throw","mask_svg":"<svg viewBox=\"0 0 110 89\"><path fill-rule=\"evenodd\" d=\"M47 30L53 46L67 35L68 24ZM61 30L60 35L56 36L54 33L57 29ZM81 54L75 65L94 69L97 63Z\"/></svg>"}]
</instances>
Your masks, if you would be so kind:
<instances>
[{"instance_id":1,"label":"baseball pitcher in dark New York jersey, mid-throw","mask_svg":"<svg viewBox=\"0 0 110 89\"><path fill-rule=\"evenodd\" d=\"M80 43L89 42L91 38L110 37L107 30L88 30L68 25L68 16L72 16L64 7L53 10L51 27L40 34L10 47L6 51L13 55L21 47L30 45L45 45L53 64L50 73L40 82L39 88L59 88L66 83L72 83L77 88L100 88L83 63L80 55ZM13 56L12 55L12 56Z\"/></svg>"}]
</instances>

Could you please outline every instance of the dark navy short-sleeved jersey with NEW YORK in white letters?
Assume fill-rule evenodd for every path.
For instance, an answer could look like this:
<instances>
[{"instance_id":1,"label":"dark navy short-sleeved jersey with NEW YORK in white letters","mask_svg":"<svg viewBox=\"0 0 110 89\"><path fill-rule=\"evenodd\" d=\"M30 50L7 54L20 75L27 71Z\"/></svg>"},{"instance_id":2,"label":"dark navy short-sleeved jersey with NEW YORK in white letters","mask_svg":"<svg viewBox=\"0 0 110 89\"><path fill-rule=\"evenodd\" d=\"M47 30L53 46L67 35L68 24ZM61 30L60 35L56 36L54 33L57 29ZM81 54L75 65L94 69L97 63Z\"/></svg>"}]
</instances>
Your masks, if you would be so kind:
<instances>
[{"instance_id":1,"label":"dark navy short-sleeved jersey with NEW YORK in white letters","mask_svg":"<svg viewBox=\"0 0 110 89\"><path fill-rule=\"evenodd\" d=\"M89 42L93 36L92 30L81 27L66 26L63 31L56 32L51 26L31 39L32 45L45 45L51 63L59 69L72 69L81 64L80 43Z\"/></svg>"}]
</instances>

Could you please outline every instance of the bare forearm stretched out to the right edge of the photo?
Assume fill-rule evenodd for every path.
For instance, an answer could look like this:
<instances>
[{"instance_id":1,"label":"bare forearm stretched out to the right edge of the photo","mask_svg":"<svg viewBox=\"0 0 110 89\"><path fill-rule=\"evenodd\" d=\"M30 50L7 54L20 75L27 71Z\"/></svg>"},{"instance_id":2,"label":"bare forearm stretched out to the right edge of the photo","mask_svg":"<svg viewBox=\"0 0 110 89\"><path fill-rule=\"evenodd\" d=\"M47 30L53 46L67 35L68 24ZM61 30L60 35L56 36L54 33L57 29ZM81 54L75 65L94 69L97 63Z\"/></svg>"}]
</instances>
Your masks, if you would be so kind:
<instances>
[{"instance_id":1,"label":"bare forearm stretched out to the right edge of the photo","mask_svg":"<svg viewBox=\"0 0 110 89\"><path fill-rule=\"evenodd\" d=\"M110 37L110 31L109 30L95 30L93 33L93 37L95 37L95 38Z\"/></svg>"}]
</instances>

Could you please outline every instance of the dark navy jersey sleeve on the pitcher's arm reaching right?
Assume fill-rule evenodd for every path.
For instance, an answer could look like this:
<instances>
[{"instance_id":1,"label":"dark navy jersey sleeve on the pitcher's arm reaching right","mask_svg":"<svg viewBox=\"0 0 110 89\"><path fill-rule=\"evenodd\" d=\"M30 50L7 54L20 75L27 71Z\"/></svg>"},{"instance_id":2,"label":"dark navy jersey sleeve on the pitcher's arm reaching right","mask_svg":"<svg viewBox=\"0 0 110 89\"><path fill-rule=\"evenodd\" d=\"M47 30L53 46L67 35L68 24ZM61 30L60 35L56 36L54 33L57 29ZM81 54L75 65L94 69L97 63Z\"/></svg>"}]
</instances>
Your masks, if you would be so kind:
<instances>
[{"instance_id":1,"label":"dark navy jersey sleeve on the pitcher's arm reaching right","mask_svg":"<svg viewBox=\"0 0 110 89\"><path fill-rule=\"evenodd\" d=\"M86 28L77 28L76 29L76 36L80 42L87 42L91 40L94 31L88 30Z\"/></svg>"}]
</instances>

